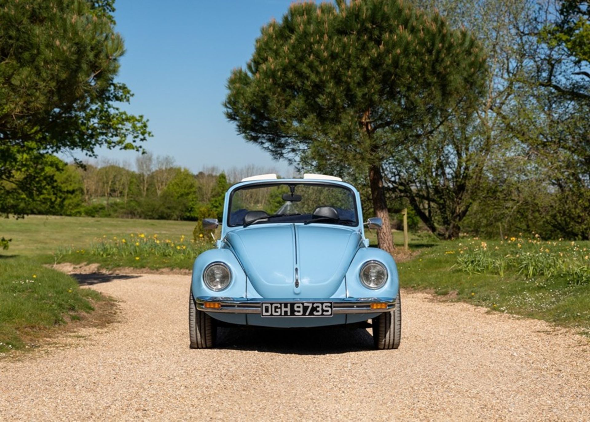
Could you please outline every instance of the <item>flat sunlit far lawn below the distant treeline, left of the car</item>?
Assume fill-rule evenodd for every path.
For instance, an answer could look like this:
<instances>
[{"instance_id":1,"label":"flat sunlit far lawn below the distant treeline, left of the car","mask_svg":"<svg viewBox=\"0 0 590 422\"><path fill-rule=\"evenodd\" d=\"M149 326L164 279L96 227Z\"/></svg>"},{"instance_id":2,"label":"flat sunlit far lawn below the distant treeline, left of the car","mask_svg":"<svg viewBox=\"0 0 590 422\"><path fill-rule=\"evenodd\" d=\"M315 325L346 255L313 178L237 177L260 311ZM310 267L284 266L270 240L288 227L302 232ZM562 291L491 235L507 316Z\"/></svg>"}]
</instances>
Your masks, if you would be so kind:
<instances>
[{"instance_id":1,"label":"flat sunlit far lawn below the distant treeline, left of the car","mask_svg":"<svg viewBox=\"0 0 590 422\"><path fill-rule=\"evenodd\" d=\"M19 220L0 218L0 237L12 238L8 251L0 250L0 255L51 255L60 246L87 247L103 235L112 238L141 232L192 238L194 227L195 222L190 221L36 215Z\"/></svg>"}]
</instances>

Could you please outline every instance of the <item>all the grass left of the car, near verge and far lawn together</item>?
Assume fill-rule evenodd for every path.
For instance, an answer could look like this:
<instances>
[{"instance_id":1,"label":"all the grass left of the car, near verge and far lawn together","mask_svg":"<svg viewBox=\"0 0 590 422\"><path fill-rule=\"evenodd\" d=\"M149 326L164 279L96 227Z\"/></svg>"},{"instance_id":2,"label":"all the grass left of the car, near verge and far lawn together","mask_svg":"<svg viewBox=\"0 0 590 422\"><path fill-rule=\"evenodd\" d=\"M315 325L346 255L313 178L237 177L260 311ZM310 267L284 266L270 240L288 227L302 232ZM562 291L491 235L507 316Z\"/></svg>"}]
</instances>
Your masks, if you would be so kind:
<instances>
[{"instance_id":1,"label":"all the grass left of the car, near verge and far lawn together","mask_svg":"<svg viewBox=\"0 0 590 422\"><path fill-rule=\"evenodd\" d=\"M60 216L0 219L0 237L12 238L8 251L0 249L0 353L27 348L28 343L53 332L54 327L92 311L90 300L106 300L96 291L80 289L70 276L42 266L53 264L53 253L58 249L76 251L103 236L112 238L133 232L192 238L194 226L194 222ZM99 262L108 268L146 267L156 259L146 256L137 262L135 257L71 258L71 262ZM182 258L176 261L176 256L162 257L151 266L190 268L192 259Z\"/></svg>"}]
</instances>

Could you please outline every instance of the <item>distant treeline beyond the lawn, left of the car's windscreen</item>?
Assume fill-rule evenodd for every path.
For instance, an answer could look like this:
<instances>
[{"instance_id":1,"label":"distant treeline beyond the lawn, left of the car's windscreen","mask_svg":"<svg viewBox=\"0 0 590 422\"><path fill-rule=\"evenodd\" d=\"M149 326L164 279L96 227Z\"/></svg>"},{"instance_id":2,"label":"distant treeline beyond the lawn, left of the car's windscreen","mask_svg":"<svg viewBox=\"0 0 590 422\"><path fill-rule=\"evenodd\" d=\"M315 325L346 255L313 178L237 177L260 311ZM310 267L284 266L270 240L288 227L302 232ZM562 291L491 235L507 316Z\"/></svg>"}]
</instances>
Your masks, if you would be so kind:
<instances>
[{"instance_id":1,"label":"distant treeline beyond the lawn, left of the car's windscreen","mask_svg":"<svg viewBox=\"0 0 590 422\"><path fill-rule=\"evenodd\" d=\"M226 172L210 167L193 174L176 165L172 157L151 153L139 155L135 166L108 159L82 167L64 163L53 174L55 186L12 209L22 215L221 219L225 191L232 183L270 171L250 165Z\"/></svg>"}]
</instances>

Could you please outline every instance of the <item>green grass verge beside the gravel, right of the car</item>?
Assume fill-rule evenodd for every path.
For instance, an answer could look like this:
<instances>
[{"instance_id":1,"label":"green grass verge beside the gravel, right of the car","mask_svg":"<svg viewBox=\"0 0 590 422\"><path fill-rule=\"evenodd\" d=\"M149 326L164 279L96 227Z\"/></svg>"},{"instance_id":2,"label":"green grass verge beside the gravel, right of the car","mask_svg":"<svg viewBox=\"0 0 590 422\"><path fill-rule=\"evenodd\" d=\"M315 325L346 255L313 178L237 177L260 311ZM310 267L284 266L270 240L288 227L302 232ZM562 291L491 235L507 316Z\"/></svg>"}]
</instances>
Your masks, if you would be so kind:
<instances>
[{"instance_id":1,"label":"green grass verge beside the gravel, right of the car","mask_svg":"<svg viewBox=\"0 0 590 422\"><path fill-rule=\"evenodd\" d=\"M493 268L470 274L461 270L457 262L457 257L463 255L460 251L469 242L466 239L441 242L424 249L412 261L399 264L402 287L431 290L491 311L542 319L590 333L590 285L576 284L567 274L528 277L516 268L506 268L503 276ZM590 242L577 242L577 245L590 248ZM502 245L487 241L488 249L495 250L496 246Z\"/></svg>"}]
</instances>

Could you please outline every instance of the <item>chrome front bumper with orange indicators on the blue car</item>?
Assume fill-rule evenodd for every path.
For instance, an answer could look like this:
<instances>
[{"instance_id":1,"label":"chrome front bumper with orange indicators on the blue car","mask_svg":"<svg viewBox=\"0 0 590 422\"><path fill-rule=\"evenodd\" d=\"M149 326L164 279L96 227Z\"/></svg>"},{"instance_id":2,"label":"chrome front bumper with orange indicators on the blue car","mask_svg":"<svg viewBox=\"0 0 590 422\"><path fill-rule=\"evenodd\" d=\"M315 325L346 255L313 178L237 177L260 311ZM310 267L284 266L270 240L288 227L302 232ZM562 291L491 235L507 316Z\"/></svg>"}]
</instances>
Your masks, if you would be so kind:
<instances>
[{"instance_id":1,"label":"chrome front bumper with orange indicators on the blue car","mask_svg":"<svg viewBox=\"0 0 590 422\"><path fill-rule=\"evenodd\" d=\"M382 313L395 309L395 298L346 298L346 299L246 299L231 297L197 297L196 309L207 312L224 312L234 314L260 314L261 303L266 302L332 302L333 313L336 314L369 314ZM219 303L219 308L205 308L205 302ZM371 309L372 303L385 303L386 308Z\"/></svg>"}]
</instances>

